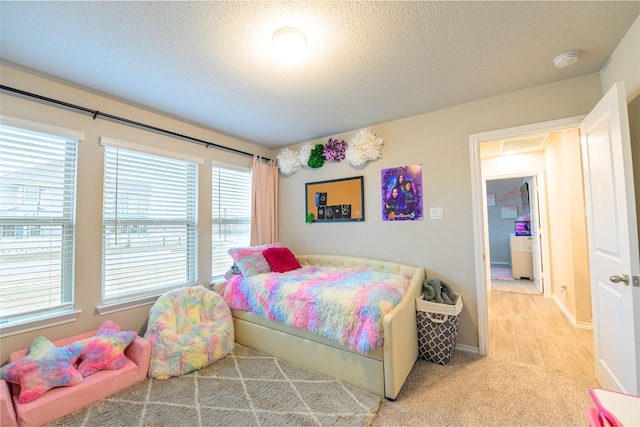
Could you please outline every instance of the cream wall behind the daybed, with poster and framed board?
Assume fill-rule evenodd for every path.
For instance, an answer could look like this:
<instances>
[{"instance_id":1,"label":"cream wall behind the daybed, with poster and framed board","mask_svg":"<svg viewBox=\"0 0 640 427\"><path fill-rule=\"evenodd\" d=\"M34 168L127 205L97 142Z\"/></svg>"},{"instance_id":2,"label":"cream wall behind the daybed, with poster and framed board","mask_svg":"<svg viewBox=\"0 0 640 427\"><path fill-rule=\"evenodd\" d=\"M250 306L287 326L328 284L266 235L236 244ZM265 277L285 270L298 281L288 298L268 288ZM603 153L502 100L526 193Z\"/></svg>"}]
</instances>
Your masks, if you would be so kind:
<instances>
[{"instance_id":1,"label":"cream wall behind the daybed, with poster and framed board","mask_svg":"<svg viewBox=\"0 0 640 427\"><path fill-rule=\"evenodd\" d=\"M460 292L464 301L458 344L478 347L469 135L586 114L600 99L592 74L512 92L478 102L381 123L382 159L354 168L343 162L305 168L280 180L280 240L296 253L331 253L382 258L423 266ZM357 130L329 136L349 141ZM380 171L422 164L427 212L420 222L383 222ZM305 223L305 183L364 176L366 220L362 223ZM430 207L444 219L430 220Z\"/></svg>"}]
</instances>

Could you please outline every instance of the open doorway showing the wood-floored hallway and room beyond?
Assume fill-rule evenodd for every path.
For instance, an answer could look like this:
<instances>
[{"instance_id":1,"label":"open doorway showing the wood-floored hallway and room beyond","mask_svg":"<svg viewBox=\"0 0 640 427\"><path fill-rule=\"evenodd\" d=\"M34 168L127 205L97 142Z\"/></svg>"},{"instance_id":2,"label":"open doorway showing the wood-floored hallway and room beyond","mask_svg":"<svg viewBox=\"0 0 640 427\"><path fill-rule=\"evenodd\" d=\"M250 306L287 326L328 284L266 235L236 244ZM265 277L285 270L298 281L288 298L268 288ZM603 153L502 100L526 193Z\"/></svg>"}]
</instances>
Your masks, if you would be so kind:
<instances>
[{"instance_id":1,"label":"open doorway showing the wood-floored hallway and room beyond","mask_svg":"<svg viewBox=\"0 0 640 427\"><path fill-rule=\"evenodd\" d=\"M500 150L501 146L508 149ZM561 223L570 216L572 194L582 194L581 165L575 164L576 157L580 158L579 149L574 126L479 143L480 176L483 195L487 196L483 207L483 235L487 236L484 264L489 272L485 290L490 324L486 354L594 376L593 335L590 330L578 329L574 317L574 257L554 254L556 259L550 262L552 249L561 254L575 252L572 243L563 243L573 238ZM568 162L573 165L567 167ZM579 185L569 182L571 174L580 178ZM551 188L545 185L547 177ZM555 240L550 238L554 230L550 225L555 226ZM528 233L519 233L523 229ZM528 244L526 248L524 242ZM551 274L554 263L556 271ZM508 267L513 279L526 279L523 283L532 291L513 286L518 285L515 281L498 282L508 283L513 286L511 289L494 288L491 271L495 266ZM554 287L552 277L566 280L569 285Z\"/></svg>"}]
</instances>

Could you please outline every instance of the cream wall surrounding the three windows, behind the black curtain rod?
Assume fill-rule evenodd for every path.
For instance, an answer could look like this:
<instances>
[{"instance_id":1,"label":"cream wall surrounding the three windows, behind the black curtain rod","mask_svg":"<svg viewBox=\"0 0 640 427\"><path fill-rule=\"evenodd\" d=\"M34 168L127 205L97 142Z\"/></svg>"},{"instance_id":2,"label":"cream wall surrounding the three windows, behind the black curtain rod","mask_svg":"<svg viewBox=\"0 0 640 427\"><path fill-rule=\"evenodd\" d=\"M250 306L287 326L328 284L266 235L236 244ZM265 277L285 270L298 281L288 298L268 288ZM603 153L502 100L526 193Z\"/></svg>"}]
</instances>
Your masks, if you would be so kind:
<instances>
[{"instance_id":1,"label":"cream wall surrounding the three windows, behind the black curtain rod","mask_svg":"<svg viewBox=\"0 0 640 427\"><path fill-rule=\"evenodd\" d=\"M36 77L31 74L2 66L2 84L16 89L59 99L72 104L125 117L160 128L165 128L191 137L211 141L238 150L273 157L270 150L254 144L226 137L196 126L144 111L112 99L92 95L82 90ZM0 114L48 123L85 132L85 140L78 148L78 189L76 212L76 265L75 306L82 310L76 322L62 326L28 332L2 338L0 363L7 360L12 351L26 348L34 338L45 335L51 340L85 332L100 326L107 319L114 320L123 330L135 330L142 334L146 330L146 319L150 305L99 316L95 307L101 303L101 241L102 241L102 174L103 148L98 146L100 136L153 145L162 149L187 153L205 159L199 171L199 215L198 224L198 281L207 285L211 277L211 169L210 160L216 159L236 165L251 166L251 158L227 151L205 148L183 140L177 140L149 131L96 119L50 104L0 92Z\"/></svg>"}]
</instances>

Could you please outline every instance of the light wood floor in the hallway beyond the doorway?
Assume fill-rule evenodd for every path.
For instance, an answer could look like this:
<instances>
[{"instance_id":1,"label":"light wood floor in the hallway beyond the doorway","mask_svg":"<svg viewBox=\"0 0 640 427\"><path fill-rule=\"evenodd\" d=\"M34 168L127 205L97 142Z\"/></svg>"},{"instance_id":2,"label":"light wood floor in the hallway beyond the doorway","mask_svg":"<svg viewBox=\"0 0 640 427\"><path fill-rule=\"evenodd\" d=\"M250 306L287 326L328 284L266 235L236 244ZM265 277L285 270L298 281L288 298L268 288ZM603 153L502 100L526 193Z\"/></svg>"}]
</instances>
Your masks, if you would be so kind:
<instances>
[{"instance_id":1,"label":"light wood floor in the hallway beyond the doorway","mask_svg":"<svg viewBox=\"0 0 640 427\"><path fill-rule=\"evenodd\" d=\"M595 377L592 331L573 327L555 301L492 290L488 302L491 356Z\"/></svg>"}]
</instances>

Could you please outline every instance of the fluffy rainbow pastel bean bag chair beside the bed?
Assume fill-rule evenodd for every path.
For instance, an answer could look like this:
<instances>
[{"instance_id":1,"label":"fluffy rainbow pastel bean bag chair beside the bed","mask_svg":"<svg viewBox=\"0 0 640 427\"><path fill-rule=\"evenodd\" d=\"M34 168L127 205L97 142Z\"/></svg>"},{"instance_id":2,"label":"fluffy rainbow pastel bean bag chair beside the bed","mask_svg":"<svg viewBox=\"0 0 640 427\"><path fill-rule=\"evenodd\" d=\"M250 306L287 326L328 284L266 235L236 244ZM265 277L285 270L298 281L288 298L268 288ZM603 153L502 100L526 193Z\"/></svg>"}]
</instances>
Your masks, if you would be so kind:
<instances>
[{"instance_id":1,"label":"fluffy rainbow pastel bean bag chair beside the bed","mask_svg":"<svg viewBox=\"0 0 640 427\"><path fill-rule=\"evenodd\" d=\"M151 307L144 337L151 343L149 377L187 374L231 353L231 310L222 296L203 286L176 289Z\"/></svg>"}]
</instances>

